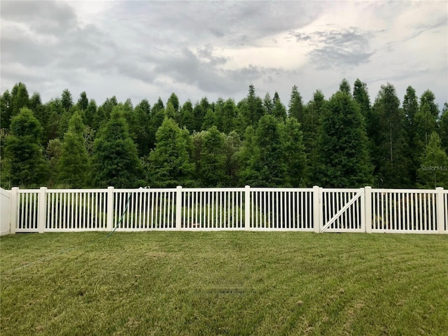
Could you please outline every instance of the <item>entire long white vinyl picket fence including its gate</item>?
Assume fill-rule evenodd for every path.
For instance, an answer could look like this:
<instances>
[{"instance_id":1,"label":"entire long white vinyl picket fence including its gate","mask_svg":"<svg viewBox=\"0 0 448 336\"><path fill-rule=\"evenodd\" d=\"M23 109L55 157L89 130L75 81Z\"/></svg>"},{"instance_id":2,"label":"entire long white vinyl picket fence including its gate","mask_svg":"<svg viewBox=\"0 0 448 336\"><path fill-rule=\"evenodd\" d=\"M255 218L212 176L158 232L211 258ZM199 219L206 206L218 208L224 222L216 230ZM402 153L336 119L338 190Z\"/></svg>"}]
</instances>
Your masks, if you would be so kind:
<instances>
[{"instance_id":1,"label":"entire long white vinyl picket fence including its gate","mask_svg":"<svg viewBox=\"0 0 448 336\"><path fill-rule=\"evenodd\" d=\"M265 230L448 233L448 190L140 188L5 191L10 233ZM2 198L3 204L3 198ZM3 230L3 229L2 229Z\"/></svg>"}]
</instances>

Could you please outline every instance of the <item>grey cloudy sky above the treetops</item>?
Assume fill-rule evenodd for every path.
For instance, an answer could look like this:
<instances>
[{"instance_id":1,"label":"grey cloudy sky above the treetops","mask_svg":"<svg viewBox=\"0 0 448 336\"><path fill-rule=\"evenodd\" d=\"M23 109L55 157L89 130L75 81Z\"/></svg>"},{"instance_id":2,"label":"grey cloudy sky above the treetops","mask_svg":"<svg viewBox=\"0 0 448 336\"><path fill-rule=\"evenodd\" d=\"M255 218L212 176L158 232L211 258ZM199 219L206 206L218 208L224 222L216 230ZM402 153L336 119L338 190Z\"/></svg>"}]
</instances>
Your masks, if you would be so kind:
<instances>
[{"instance_id":1,"label":"grey cloudy sky above the treetops","mask_svg":"<svg viewBox=\"0 0 448 336\"><path fill-rule=\"evenodd\" d=\"M102 104L181 104L279 92L329 97L342 78L373 102L392 83L448 102L447 1L1 1L1 92L69 89Z\"/></svg>"}]
</instances>

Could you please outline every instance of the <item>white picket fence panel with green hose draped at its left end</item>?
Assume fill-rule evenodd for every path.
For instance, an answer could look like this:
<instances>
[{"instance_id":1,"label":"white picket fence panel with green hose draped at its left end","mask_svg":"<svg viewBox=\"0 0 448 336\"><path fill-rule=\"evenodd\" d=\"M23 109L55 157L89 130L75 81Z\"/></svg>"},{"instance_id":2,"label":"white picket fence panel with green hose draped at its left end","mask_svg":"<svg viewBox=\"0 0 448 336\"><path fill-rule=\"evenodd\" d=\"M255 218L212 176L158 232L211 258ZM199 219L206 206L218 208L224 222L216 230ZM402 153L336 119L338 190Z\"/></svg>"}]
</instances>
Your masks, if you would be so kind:
<instances>
[{"instance_id":1,"label":"white picket fence panel with green hose draped at its left end","mask_svg":"<svg viewBox=\"0 0 448 336\"><path fill-rule=\"evenodd\" d=\"M121 231L176 228L176 189L116 189L113 228Z\"/></svg>"}]
</instances>

